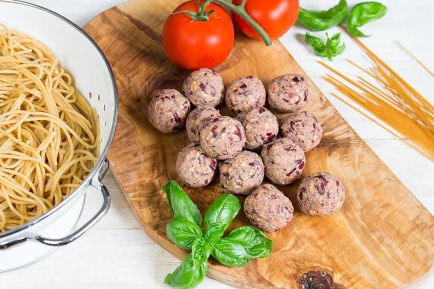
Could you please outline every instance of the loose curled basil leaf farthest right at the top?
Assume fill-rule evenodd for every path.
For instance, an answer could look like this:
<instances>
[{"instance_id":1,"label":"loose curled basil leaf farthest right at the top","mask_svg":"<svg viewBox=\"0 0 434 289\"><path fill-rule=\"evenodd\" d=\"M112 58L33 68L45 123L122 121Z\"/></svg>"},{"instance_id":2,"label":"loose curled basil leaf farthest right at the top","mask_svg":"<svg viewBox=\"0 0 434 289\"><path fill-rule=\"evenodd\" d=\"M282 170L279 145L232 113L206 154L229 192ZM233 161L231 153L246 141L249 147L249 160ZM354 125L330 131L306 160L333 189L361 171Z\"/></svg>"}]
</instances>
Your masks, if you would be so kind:
<instances>
[{"instance_id":1,"label":"loose curled basil leaf farthest right at the top","mask_svg":"<svg viewBox=\"0 0 434 289\"><path fill-rule=\"evenodd\" d=\"M358 27L368 22L375 21L383 17L387 12L387 7L378 2L362 2L351 9L347 19L347 29L352 35L358 37L368 37L358 30Z\"/></svg>"}]
</instances>

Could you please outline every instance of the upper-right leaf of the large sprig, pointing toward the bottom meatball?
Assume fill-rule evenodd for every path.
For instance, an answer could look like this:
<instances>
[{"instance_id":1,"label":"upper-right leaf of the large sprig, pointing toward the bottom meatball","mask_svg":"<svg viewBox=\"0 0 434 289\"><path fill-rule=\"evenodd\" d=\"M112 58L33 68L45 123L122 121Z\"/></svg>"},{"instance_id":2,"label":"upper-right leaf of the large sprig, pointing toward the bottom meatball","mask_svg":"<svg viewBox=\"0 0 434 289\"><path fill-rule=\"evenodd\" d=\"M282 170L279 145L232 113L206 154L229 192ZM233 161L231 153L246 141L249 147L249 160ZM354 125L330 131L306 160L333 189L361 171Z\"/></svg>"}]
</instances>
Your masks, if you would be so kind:
<instances>
[{"instance_id":1,"label":"upper-right leaf of the large sprig, pointing toward the bottom meatball","mask_svg":"<svg viewBox=\"0 0 434 289\"><path fill-rule=\"evenodd\" d=\"M220 224L223 232L229 227L239 212L241 205L237 197L224 194L217 198L205 213L205 227L208 230L214 224ZM222 233L223 234L223 233Z\"/></svg>"}]
</instances>

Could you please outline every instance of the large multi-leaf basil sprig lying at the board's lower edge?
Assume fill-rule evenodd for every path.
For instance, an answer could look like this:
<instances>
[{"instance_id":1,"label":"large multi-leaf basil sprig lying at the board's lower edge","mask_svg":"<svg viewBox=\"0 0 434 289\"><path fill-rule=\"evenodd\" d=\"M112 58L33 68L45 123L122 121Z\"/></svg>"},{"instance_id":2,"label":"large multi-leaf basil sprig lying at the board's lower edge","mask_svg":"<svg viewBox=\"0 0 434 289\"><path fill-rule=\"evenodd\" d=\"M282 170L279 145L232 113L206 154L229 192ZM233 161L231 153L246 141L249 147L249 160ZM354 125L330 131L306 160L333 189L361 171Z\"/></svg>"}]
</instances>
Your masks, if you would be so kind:
<instances>
[{"instance_id":1,"label":"large multi-leaf basil sprig lying at the board's lower edge","mask_svg":"<svg viewBox=\"0 0 434 289\"><path fill-rule=\"evenodd\" d=\"M199 209L174 180L161 188L167 196L174 218L166 225L167 238L182 249L191 249L181 265L164 279L174 288L196 287L205 278L208 257L226 266L245 266L252 259L271 254L273 241L252 226L239 227L222 238L241 208L238 198L224 194L205 213L206 232L200 227Z\"/></svg>"}]
</instances>

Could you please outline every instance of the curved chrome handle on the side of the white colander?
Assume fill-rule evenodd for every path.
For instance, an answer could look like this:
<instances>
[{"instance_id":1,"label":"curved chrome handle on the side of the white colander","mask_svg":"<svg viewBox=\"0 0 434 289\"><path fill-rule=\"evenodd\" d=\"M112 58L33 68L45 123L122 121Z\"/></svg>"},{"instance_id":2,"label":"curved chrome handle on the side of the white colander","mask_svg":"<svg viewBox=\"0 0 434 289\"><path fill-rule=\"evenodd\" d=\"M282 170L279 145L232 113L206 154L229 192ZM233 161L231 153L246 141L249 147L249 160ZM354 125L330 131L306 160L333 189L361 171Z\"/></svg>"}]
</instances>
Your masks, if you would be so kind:
<instances>
[{"instance_id":1,"label":"curved chrome handle on the side of the white colander","mask_svg":"<svg viewBox=\"0 0 434 289\"><path fill-rule=\"evenodd\" d=\"M101 182L101 179L105 175L108 169L108 161L105 160L104 163L101 166L100 171L98 174L96 174L93 179L90 181L89 186L97 189L100 191L103 195L103 204L97 214L95 214L86 224L81 226L78 230L74 231L73 233L70 233L66 237L59 238L59 239L51 239L51 238L45 238L40 235L28 235L25 237L20 237L15 240L11 240L9 242L0 244L0 250L3 249L9 249L12 246L18 245L22 242L25 242L27 240L36 240L42 244L49 245L49 246L63 246L68 243L73 242L77 238L79 238L84 232L86 232L88 229L90 229L93 225L98 223L98 221L101 220L101 218L104 217L104 215L107 214L107 211L110 207L110 194L107 190L107 188L104 186L104 184Z\"/></svg>"}]
</instances>

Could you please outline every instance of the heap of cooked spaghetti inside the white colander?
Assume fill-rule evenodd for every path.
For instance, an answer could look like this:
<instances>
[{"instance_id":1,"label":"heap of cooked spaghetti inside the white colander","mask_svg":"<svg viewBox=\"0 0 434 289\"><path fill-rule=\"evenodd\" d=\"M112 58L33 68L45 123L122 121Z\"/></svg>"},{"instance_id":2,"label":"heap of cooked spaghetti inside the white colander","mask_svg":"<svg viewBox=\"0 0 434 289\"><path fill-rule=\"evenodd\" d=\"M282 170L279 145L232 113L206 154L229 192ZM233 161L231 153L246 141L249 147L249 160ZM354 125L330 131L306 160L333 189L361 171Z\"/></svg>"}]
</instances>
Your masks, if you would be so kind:
<instances>
[{"instance_id":1,"label":"heap of cooked spaghetti inside the white colander","mask_svg":"<svg viewBox=\"0 0 434 289\"><path fill-rule=\"evenodd\" d=\"M80 185L98 160L99 129L50 48L0 23L0 232Z\"/></svg>"}]
</instances>

